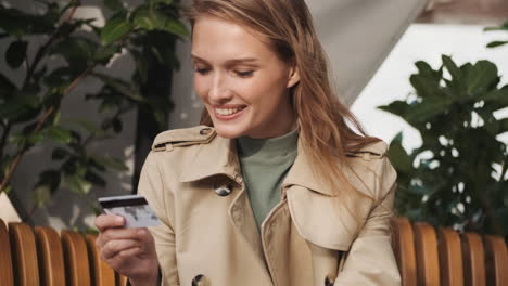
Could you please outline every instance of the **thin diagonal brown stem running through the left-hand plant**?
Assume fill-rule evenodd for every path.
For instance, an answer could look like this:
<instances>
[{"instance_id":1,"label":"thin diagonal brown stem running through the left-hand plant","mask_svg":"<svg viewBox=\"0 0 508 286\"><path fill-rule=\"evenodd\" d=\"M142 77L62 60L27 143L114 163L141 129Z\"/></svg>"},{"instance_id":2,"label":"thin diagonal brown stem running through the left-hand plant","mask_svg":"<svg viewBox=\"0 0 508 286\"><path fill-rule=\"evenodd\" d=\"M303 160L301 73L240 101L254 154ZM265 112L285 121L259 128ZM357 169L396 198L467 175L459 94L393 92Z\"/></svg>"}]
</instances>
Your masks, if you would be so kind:
<instances>
[{"instance_id":1,"label":"thin diagonal brown stem running through the left-hand plant","mask_svg":"<svg viewBox=\"0 0 508 286\"><path fill-rule=\"evenodd\" d=\"M90 72L92 70L92 68L96 66L96 64L92 64L90 65L89 67L87 67L87 69L85 69L85 72L77 78L75 78L73 80L73 82L71 82L71 84L68 84L68 87L64 90L64 92L62 93L62 98L65 96L66 94L68 94L86 76L88 76L88 74L90 74ZM42 127L45 126L46 121L48 120L48 118L50 117L51 114L53 114L54 112L54 106L50 106L43 114L42 116L39 118L38 122L37 122L37 126L36 128L34 129L34 131L31 132L31 134L36 134L37 132L39 132ZM5 188L5 186L8 185L9 181L11 180L11 177L12 174L14 173L14 170L17 168L17 166L20 165L21 162L21 159L23 157L23 155L25 155L25 153L29 150L29 146L27 143L23 144L22 147L20 147L16 156L14 157L14 160L11 162L11 165L7 168L7 172L5 172L5 177L3 177L2 179L2 183L0 184L0 193L3 192L3 190Z\"/></svg>"}]
</instances>

